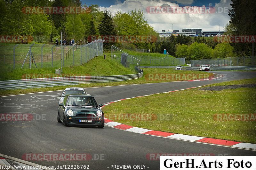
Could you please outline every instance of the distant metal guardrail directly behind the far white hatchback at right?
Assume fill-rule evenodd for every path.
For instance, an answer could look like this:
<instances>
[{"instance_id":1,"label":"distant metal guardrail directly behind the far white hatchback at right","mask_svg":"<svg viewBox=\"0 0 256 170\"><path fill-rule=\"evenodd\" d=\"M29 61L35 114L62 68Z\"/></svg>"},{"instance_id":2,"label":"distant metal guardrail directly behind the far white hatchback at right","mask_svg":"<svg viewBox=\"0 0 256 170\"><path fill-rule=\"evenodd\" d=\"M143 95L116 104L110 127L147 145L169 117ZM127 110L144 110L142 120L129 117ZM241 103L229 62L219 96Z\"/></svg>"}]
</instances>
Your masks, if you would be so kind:
<instances>
[{"instance_id":1,"label":"distant metal guardrail directly behind the far white hatchback at right","mask_svg":"<svg viewBox=\"0 0 256 170\"><path fill-rule=\"evenodd\" d=\"M199 67L187 67L186 70L199 70ZM256 70L256 66L226 66L226 67L211 67L211 71L218 70Z\"/></svg>"}]
</instances>

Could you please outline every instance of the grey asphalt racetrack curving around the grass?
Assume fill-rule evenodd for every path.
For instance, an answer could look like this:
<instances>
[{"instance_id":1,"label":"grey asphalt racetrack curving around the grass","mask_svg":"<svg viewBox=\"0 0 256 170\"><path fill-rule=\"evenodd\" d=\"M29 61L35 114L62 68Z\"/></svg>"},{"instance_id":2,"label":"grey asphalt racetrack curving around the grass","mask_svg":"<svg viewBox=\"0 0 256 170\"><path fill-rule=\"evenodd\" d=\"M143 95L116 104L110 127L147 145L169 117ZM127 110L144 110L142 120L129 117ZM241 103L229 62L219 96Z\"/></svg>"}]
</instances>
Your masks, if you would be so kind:
<instances>
[{"instance_id":1,"label":"grey asphalt racetrack curving around the grass","mask_svg":"<svg viewBox=\"0 0 256 170\"><path fill-rule=\"evenodd\" d=\"M192 88L223 81L256 77L256 72L213 72L224 74L219 80L180 81L153 84L87 88L98 104L172 90ZM186 90L183 91L186 93ZM159 160L150 153L202 153L215 156L255 156L255 150L184 141L138 134L106 126L64 127L57 123L58 93L62 91L1 97L1 114L30 113L35 120L0 121L0 153L39 165L88 165L92 170L113 169L111 165L141 165L144 169L159 169ZM139 103L138 103L139 104ZM136 106L134 106L136 107ZM138 110L139 112L139 110ZM76 154L76 160L38 160L38 154ZM81 160L80 154L87 159ZM37 156L36 156L37 155ZM89 155L89 156L88 156ZM91 157L90 157L91 155ZM152 154L151 154L152 155ZM34 158L33 158L34 157ZM34 160L30 160L30 159ZM84 159L84 157L82 158ZM88 160L89 159L89 160ZM139 167L139 166L137 166ZM59 168L60 169L60 168ZM80 168L81 169L81 168ZM141 168L142 169L142 168Z\"/></svg>"}]
</instances>

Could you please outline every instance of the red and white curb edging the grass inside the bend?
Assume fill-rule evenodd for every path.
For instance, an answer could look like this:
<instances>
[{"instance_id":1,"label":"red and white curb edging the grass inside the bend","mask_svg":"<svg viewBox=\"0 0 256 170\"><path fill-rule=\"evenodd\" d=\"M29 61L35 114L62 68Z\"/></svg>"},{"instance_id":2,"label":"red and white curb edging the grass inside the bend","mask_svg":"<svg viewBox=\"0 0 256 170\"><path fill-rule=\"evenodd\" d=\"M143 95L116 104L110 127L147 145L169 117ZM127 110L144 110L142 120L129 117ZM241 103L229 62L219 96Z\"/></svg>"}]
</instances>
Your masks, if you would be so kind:
<instances>
[{"instance_id":1,"label":"red and white curb edging the grass inside the bend","mask_svg":"<svg viewBox=\"0 0 256 170\"><path fill-rule=\"evenodd\" d=\"M192 88L187 88L187 89L193 89L193 88L198 88L198 87L203 87L203 86L197 86L197 87L192 87ZM180 90L186 90L186 89L180 89ZM168 92L163 92L163 93L170 93L170 92L180 91L180 90L173 90L173 91L168 91ZM156 93L156 94L162 94L162 93ZM155 95L155 94L151 94L151 95ZM151 96L151 95L145 95L145 96ZM144 96L137 96L137 97L144 97ZM126 98L126 99L132 99L132 98L136 98L136 97ZM117 100L114 102L119 102L119 101L126 100L126 99L121 99L121 100ZM106 103L102 107L104 107L108 104L114 103L114 102ZM214 145L232 146L232 147L236 147L236 148L256 149L256 144L235 142L235 141L229 141L229 140L223 140L223 139L182 135L182 134L162 132L162 131L152 131L152 130L148 130L148 129L144 129L144 128L133 127L133 126L121 124L118 122L114 122L107 118L105 118L105 125L108 125L108 126L111 126L111 127L117 128L117 129L125 130L125 131L153 135L153 136L160 136L160 137L173 138L173 139L182 139L182 140L202 142L202 143L214 144Z\"/></svg>"}]
</instances>

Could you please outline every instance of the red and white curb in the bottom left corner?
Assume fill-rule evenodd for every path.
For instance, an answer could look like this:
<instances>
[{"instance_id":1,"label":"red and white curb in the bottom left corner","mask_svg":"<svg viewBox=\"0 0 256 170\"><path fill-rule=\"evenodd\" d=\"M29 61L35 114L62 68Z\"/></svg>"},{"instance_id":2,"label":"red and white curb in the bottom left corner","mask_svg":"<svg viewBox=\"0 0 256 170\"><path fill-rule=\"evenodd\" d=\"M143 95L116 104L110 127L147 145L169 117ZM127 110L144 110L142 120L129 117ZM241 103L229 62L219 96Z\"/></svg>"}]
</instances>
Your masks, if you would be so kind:
<instances>
[{"instance_id":1,"label":"red and white curb in the bottom left corner","mask_svg":"<svg viewBox=\"0 0 256 170\"><path fill-rule=\"evenodd\" d=\"M45 167L39 169L38 167ZM0 169L6 170L54 170L47 166L38 165L32 162L14 158L0 153Z\"/></svg>"}]
</instances>

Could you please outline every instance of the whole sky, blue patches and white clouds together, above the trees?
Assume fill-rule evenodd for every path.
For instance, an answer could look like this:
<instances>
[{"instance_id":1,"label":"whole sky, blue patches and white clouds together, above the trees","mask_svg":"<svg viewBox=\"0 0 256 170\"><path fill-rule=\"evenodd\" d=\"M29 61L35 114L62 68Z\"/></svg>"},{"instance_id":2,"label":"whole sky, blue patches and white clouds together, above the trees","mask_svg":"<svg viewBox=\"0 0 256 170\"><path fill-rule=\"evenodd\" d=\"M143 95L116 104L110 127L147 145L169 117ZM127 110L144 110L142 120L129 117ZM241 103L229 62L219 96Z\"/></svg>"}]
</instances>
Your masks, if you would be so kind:
<instances>
[{"instance_id":1,"label":"whole sky, blue patches and white clouds together, above the trees","mask_svg":"<svg viewBox=\"0 0 256 170\"><path fill-rule=\"evenodd\" d=\"M141 9L144 11L145 19L148 19L149 25L156 31L179 30L183 28L201 28L202 31L223 31L223 26L228 24L230 17L228 9L231 9L231 0L81 0L82 4L98 4L101 10L107 9L115 15L117 11L129 12L131 10ZM147 9L154 10L147 10ZM156 12L158 7L158 13ZM159 12L159 7L183 7L179 13ZM188 8L193 7L193 8ZM196 7L211 7L210 13L196 13ZM186 9L189 13L185 13ZM167 8L166 8L167 9ZM195 10L195 13L193 10ZM213 11L212 11L213 9ZM184 12L185 11L185 12Z\"/></svg>"}]
</instances>

